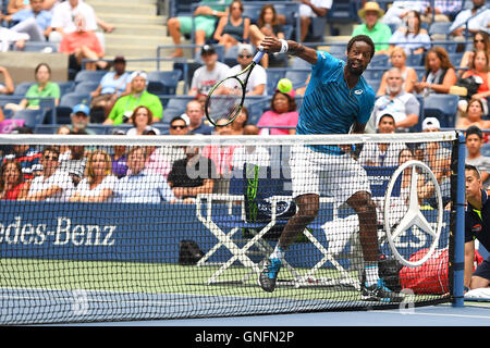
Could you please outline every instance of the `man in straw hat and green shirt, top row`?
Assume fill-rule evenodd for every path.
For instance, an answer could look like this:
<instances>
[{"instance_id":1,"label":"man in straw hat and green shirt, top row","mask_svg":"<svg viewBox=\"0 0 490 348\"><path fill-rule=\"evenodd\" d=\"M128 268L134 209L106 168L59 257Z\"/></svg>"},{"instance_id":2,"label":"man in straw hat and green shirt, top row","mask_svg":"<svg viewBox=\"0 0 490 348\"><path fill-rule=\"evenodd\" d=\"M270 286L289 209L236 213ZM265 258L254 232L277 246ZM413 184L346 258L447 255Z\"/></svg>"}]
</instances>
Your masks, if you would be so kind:
<instances>
[{"instance_id":1,"label":"man in straw hat and green shirt, top row","mask_svg":"<svg viewBox=\"0 0 490 348\"><path fill-rule=\"evenodd\" d=\"M379 21L384 15L384 11L380 9L377 2L368 1L358 11L358 14L364 23L354 28L352 36L369 36L375 42L376 54L387 54L390 48L389 41L392 33L387 24Z\"/></svg>"}]
</instances>

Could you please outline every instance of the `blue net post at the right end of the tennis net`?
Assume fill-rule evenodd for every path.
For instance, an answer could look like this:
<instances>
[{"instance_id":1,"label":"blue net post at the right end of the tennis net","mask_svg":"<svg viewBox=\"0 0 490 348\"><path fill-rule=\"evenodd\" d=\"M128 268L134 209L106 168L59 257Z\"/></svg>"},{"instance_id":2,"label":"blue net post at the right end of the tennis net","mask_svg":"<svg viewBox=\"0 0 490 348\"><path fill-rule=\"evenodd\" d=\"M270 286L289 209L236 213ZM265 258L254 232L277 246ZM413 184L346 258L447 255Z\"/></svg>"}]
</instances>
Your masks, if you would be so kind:
<instances>
[{"instance_id":1,"label":"blue net post at the right end of the tennis net","mask_svg":"<svg viewBox=\"0 0 490 348\"><path fill-rule=\"evenodd\" d=\"M465 281L465 136L457 133L456 225L454 233L453 298L455 308L464 307Z\"/></svg>"}]
</instances>

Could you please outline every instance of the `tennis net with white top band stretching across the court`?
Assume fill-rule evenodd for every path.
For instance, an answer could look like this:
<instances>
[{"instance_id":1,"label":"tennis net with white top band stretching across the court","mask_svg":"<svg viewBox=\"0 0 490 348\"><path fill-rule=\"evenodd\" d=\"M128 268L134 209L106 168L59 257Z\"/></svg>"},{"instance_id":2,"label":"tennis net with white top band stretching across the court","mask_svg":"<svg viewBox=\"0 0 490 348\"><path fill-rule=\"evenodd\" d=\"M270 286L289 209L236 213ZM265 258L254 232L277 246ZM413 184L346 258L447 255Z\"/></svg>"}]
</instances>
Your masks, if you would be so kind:
<instances>
[{"instance_id":1,"label":"tennis net with white top band stretching across the court","mask_svg":"<svg viewBox=\"0 0 490 348\"><path fill-rule=\"evenodd\" d=\"M0 144L0 324L454 299L464 189L455 132L1 135ZM301 206L297 195L314 201ZM307 227L289 234L275 289L262 290L265 260L317 197ZM367 264L402 300L366 295Z\"/></svg>"}]
</instances>

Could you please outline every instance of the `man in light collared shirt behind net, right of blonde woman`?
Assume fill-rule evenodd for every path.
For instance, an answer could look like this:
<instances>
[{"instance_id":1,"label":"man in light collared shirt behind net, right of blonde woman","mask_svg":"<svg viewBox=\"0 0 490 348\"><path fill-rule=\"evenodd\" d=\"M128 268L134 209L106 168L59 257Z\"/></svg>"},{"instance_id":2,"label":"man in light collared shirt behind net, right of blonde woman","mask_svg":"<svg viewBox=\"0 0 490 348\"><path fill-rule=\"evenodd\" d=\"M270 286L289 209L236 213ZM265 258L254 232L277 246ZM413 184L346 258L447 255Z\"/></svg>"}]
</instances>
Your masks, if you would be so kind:
<instances>
[{"instance_id":1,"label":"man in light collared shirt behind net, right of blonde woman","mask_svg":"<svg viewBox=\"0 0 490 348\"><path fill-rule=\"evenodd\" d=\"M146 152L142 147L133 147L127 153L127 175L119 179L115 194L123 203L174 202L175 196L163 175L144 171Z\"/></svg>"}]
</instances>

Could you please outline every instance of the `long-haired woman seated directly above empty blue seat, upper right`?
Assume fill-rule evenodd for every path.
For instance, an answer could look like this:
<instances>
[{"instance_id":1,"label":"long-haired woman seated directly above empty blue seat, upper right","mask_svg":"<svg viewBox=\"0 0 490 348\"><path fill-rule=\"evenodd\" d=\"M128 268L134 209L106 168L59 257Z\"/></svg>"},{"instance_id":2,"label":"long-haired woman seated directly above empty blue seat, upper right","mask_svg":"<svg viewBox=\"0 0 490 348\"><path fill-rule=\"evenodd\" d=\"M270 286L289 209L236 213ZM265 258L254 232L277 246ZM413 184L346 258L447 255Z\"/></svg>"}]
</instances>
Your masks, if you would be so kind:
<instances>
[{"instance_id":1,"label":"long-haired woman seated directly above empty blue seat, upper right","mask_svg":"<svg viewBox=\"0 0 490 348\"><path fill-rule=\"evenodd\" d=\"M415 83L415 90L424 97L430 94L449 94L457 75L446 50L439 46L432 47L427 51L425 66L426 75L420 83Z\"/></svg>"}]
</instances>

